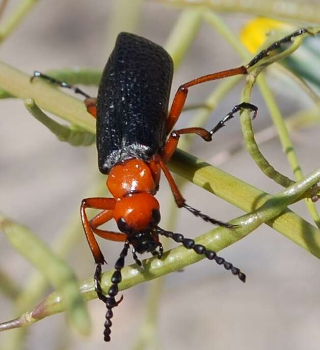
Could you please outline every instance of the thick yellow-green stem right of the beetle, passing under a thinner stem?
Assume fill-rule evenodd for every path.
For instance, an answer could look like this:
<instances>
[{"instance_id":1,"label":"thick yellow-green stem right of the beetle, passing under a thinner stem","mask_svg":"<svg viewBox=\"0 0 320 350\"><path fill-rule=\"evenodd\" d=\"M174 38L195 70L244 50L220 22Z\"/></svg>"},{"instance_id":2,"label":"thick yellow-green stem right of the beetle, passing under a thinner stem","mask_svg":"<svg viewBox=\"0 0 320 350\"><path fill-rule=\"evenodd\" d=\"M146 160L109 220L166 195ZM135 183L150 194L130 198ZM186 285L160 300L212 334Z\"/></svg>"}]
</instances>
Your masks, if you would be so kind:
<instances>
[{"instance_id":1,"label":"thick yellow-green stem right of the beetle, passing under a thinner stem","mask_svg":"<svg viewBox=\"0 0 320 350\"><path fill-rule=\"evenodd\" d=\"M270 196L183 151L177 151L174 154L170 162L170 169L247 213L262 206ZM307 223L297 214L286 209L276 220L267 222L267 224L320 258L320 236L317 237L319 229Z\"/></svg>"}]
</instances>

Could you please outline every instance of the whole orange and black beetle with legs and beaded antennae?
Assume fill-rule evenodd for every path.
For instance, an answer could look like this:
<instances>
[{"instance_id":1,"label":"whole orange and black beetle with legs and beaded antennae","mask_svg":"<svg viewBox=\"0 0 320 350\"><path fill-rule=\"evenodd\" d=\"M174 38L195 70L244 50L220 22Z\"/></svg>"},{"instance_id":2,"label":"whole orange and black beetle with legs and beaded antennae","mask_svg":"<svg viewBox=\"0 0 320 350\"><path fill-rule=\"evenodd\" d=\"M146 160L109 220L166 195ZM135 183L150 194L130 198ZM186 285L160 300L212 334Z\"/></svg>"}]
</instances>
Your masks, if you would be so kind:
<instances>
[{"instance_id":1,"label":"whole orange and black beetle with legs and beaded antennae","mask_svg":"<svg viewBox=\"0 0 320 350\"><path fill-rule=\"evenodd\" d=\"M96 263L94 274L97 296L107 308L105 315L104 340L110 341L113 308L119 305L123 297L116 301L118 284L121 282L121 270L130 245L132 256L141 266L137 253L150 252L161 258L163 246L159 235L172 238L182 243L187 249L215 260L233 275L245 282L246 275L216 252L194 240L184 238L181 234L164 230L158 226L160 221L159 203L154 195L159 188L161 171L167 178L176 204L185 208L197 217L212 224L232 228L233 225L209 217L189 206L181 195L174 179L167 168L167 163L177 148L181 135L197 134L205 141L211 141L212 135L225 126L234 117L234 113L242 109L253 111L257 107L250 103L235 105L232 110L211 130L203 128L184 128L174 130L174 126L182 112L189 88L194 85L234 76L247 74L248 69L268 56L282 43L291 41L292 37L301 35L302 29L275 42L269 48L256 55L248 65L240 66L213 74L208 74L186 82L179 86L168 113L173 62L166 50L143 37L120 33L116 39L114 50L103 70L98 97L92 98L76 86L56 80L39 71L34 77L42 77L64 88L74 90L85 97L85 105L90 114L96 118L96 145L100 172L109 174L106 186L112 198L86 198L81 204L81 219L88 244ZM88 219L87 208L102 210ZM120 232L99 229L98 227L114 218ZM115 264L115 272L111 277L112 286L108 295L101 289L101 266L104 256L97 244L95 235L106 240L124 242L120 257Z\"/></svg>"}]
</instances>

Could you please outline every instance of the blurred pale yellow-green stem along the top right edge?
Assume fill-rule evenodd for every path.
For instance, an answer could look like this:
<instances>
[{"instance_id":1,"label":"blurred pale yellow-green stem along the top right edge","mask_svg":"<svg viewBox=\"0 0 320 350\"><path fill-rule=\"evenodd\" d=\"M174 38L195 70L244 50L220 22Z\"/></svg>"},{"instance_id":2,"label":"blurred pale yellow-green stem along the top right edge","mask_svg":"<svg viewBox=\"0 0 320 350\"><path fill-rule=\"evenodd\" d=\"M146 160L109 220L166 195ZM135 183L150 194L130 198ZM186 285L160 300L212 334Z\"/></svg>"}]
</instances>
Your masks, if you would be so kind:
<instances>
[{"instance_id":1,"label":"blurred pale yellow-green stem along the top right edge","mask_svg":"<svg viewBox=\"0 0 320 350\"><path fill-rule=\"evenodd\" d=\"M305 2L292 1L252 1L246 2L242 0L153 0L155 2L168 4L179 7L195 7L205 6L216 12L226 13L245 13L255 16L265 16L277 18L280 20L295 20L298 22L307 22L320 24L318 14L320 13L320 6L317 4ZM290 11L288 11L290 9Z\"/></svg>"}]
</instances>

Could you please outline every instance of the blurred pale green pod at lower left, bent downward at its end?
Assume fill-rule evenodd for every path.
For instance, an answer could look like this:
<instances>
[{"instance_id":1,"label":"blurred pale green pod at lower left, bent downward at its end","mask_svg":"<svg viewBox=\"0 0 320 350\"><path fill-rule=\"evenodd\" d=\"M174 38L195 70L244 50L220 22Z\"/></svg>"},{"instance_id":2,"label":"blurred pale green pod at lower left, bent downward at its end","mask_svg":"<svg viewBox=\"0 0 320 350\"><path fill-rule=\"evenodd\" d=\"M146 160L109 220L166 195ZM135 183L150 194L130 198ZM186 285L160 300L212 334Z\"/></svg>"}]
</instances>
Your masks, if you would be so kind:
<instances>
[{"instance_id":1,"label":"blurred pale green pod at lower left, bent downward at its end","mask_svg":"<svg viewBox=\"0 0 320 350\"><path fill-rule=\"evenodd\" d=\"M9 243L30 261L46 277L50 284L60 290L73 325L83 334L90 331L86 305L79 294L78 283L72 270L26 227L0 215L0 229ZM41 307L40 307L41 308Z\"/></svg>"}]
</instances>

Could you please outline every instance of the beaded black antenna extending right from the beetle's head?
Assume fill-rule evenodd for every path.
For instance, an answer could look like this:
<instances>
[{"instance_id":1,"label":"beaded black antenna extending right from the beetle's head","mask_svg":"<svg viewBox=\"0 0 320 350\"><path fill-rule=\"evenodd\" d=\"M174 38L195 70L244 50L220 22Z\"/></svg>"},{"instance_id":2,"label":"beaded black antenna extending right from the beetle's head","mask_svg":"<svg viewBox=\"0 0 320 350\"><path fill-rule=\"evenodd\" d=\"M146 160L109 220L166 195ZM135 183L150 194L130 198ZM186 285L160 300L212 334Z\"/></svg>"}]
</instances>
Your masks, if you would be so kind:
<instances>
[{"instance_id":1,"label":"beaded black antenna extending right from the beetle's head","mask_svg":"<svg viewBox=\"0 0 320 350\"><path fill-rule=\"evenodd\" d=\"M157 227L157 233L168 238L172 238L177 243L182 243L186 249L193 249L197 254L204 254L209 260L215 260L218 265L223 265L226 270L230 270L235 276L238 276L239 280L246 282L246 275L238 268L234 267L231 263L228 263L223 257L218 256L213 250L206 249L202 244L196 244L194 240L190 238L184 238L181 234L174 234L171 231L165 231L160 227Z\"/></svg>"}]
</instances>

